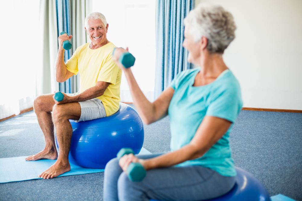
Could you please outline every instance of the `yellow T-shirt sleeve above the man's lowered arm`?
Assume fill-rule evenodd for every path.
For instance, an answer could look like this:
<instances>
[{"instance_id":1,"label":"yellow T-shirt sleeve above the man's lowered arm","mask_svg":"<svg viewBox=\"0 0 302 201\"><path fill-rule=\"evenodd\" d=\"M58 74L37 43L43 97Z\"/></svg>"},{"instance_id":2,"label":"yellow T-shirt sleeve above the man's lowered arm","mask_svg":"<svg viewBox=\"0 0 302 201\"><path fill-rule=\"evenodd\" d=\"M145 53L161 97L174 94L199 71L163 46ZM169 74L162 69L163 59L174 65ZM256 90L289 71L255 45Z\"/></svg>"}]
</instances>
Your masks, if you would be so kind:
<instances>
[{"instance_id":1,"label":"yellow T-shirt sleeve above the man's lowered arm","mask_svg":"<svg viewBox=\"0 0 302 201\"><path fill-rule=\"evenodd\" d=\"M111 84L116 83L117 74L119 68L112 60L112 54L110 53L106 58L104 65L102 66L97 81L109 82Z\"/></svg>"}]
</instances>

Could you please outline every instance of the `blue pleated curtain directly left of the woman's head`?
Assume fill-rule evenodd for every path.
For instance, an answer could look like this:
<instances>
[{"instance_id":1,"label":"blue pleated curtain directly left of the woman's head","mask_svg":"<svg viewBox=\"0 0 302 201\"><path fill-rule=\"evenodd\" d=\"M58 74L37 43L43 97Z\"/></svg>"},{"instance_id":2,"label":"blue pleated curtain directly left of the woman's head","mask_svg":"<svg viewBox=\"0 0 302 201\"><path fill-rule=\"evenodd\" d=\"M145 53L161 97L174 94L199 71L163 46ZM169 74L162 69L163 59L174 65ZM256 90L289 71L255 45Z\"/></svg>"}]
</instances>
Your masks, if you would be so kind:
<instances>
[{"instance_id":1,"label":"blue pleated curtain directly left of the woman's head","mask_svg":"<svg viewBox=\"0 0 302 201\"><path fill-rule=\"evenodd\" d=\"M194 0L156 0L155 99L179 72L191 67L188 51L182 47L183 20L194 3Z\"/></svg>"}]
</instances>

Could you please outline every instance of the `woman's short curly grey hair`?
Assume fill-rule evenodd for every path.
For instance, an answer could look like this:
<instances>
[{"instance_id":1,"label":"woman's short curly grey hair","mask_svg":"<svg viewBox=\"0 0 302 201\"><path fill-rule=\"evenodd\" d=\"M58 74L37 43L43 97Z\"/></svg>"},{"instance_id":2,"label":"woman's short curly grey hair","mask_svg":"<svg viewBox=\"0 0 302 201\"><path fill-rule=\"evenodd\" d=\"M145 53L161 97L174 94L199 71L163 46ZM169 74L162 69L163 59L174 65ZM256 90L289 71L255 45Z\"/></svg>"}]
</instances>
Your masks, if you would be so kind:
<instances>
[{"instance_id":1,"label":"woman's short curly grey hair","mask_svg":"<svg viewBox=\"0 0 302 201\"><path fill-rule=\"evenodd\" d=\"M189 12L184 24L188 26L195 42L202 36L207 38L210 53L223 53L235 38L233 16L221 6L199 4Z\"/></svg>"}]
</instances>

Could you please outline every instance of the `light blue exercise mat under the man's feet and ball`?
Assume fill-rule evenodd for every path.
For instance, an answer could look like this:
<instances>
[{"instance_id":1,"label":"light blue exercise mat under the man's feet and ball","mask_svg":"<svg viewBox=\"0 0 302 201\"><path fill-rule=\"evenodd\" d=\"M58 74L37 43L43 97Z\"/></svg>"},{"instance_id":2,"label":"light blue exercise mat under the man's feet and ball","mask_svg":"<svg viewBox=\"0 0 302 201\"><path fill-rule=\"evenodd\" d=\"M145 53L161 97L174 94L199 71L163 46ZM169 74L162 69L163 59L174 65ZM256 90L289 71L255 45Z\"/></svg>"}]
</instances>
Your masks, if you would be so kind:
<instances>
[{"instance_id":1,"label":"light blue exercise mat under the man's feet and ball","mask_svg":"<svg viewBox=\"0 0 302 201\"><path fill-rule=\"evenodd\" d=\"M142 154L150 154L150 152L142 148L139 155ZM56 160L48 159L26 161L26 157L27 156L20 156L0 159L0 183L41 179L38 175L56 162ZM69 172L65 172L58 177L104 172L104 169L82 168L74 164L70 164L70 166L71 170Z\"/></svg>"}]
</instances>

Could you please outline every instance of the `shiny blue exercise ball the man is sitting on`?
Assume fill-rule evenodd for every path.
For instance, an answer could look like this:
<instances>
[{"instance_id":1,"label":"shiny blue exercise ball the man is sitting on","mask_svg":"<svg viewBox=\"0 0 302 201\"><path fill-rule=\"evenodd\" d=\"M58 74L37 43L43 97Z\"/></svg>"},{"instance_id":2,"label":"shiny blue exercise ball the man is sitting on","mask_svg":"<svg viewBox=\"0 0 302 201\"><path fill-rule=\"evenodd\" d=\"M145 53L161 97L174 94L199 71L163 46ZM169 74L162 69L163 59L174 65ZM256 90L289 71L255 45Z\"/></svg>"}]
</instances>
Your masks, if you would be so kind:
<instances>
[{"instance_id":1,"label":"shiny blue exercise ball the man is sitting on","mask_svg":"<svg viewBox=\"0 0 302 201\"><path fill-rule=\"evenodd\" d=\"M72 138L69 162L84 168L105 168L123 147L138 154L143 147L144 127L137 112L120 103L120 109L111 116L80 121L69 120Z\"/></svg>"}]
</instances>

